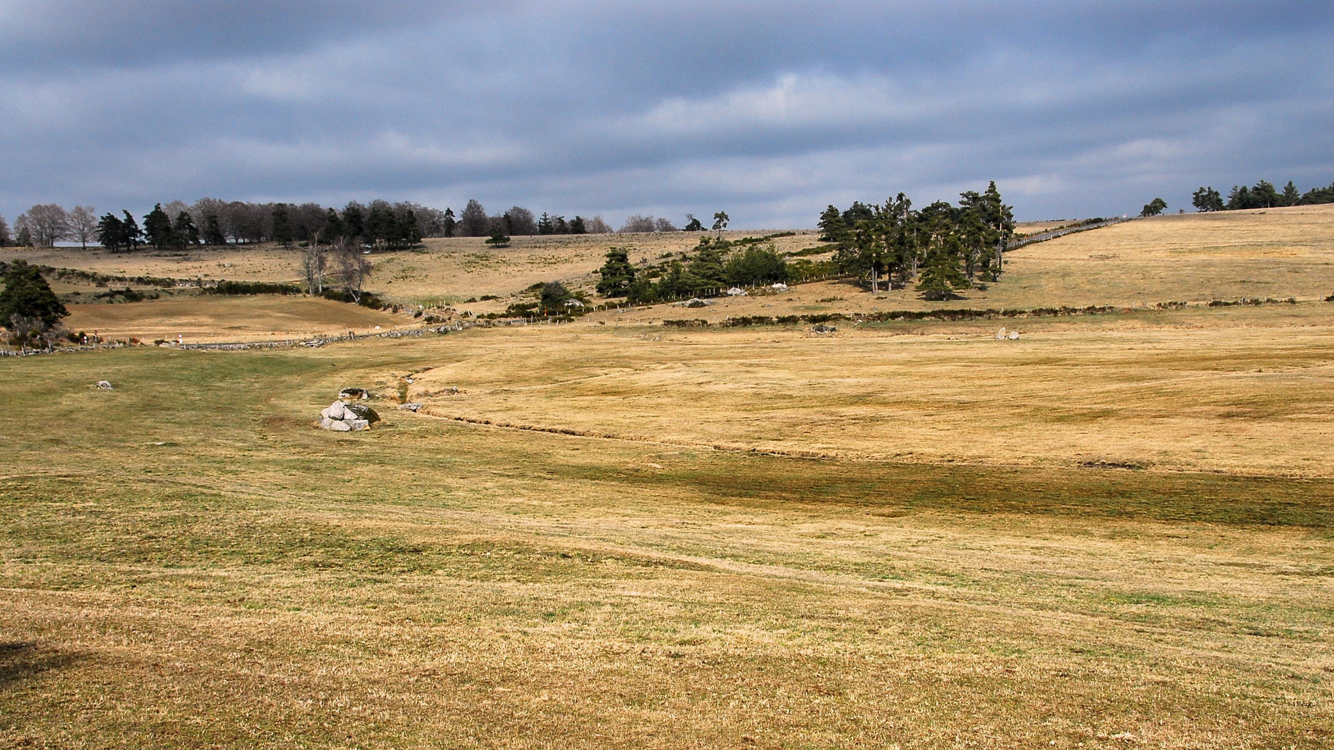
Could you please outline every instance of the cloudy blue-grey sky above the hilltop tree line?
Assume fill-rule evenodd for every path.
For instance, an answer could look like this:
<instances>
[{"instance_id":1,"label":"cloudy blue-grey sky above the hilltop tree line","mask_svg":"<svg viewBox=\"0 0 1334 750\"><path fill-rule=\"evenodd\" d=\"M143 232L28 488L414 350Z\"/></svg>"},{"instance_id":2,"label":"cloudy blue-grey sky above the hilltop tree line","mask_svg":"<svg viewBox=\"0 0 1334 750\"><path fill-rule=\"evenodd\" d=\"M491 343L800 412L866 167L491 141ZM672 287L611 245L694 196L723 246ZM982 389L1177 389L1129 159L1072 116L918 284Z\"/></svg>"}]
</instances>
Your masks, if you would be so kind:
<instances>
[{"instance_id":1,"label":"cloudy blue-grey sky above the hilltop tree line","mask_svg":"<svg viewBox=\"0 0 1334 750\"><path fill-rule=\"evenodd\" d=\"M203 196L814 227L1334 181L1334 3L0 0L0 215ZM706 220L706 223L708 223Z\"/></svg>"}]
</instances>

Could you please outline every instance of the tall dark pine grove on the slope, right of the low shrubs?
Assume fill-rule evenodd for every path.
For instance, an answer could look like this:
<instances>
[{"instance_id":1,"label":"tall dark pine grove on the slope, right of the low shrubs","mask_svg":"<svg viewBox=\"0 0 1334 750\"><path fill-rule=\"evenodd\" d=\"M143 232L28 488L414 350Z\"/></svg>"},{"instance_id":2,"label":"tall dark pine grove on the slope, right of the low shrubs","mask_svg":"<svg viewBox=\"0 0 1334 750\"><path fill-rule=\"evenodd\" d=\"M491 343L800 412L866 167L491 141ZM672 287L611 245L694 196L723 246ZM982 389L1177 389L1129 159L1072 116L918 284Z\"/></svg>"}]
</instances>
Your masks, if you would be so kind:
<instances>
[{"instance_id":1,"label":"tall dark pine grove on the slope, right of the low shrubs","mask_svg":"<svg viewBox=\"0 0 1334 750\"><path fill-rule=\"evenodd\" d=\"M959 206L938 200L914 210L902 192L883 206L830 206L819 227L820 239L838 246L839 271L864 275L872 292L882 279L886 288L915 279L927 299L946 299L979 278L999 280L1014 212L992 181L984 192L959 194Z\"/></svg>"}]
</instances>

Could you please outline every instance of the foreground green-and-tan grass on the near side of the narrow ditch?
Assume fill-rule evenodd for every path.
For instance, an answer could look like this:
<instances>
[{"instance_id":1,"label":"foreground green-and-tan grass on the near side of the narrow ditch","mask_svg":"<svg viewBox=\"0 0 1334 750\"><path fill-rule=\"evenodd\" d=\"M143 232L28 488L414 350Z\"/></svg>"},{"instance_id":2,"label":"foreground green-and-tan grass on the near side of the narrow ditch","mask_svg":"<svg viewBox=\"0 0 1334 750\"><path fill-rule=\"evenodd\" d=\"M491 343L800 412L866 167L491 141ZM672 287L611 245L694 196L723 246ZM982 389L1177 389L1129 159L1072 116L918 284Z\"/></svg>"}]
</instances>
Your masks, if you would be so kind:
<instances>
[{"instance_id":1,"label":"foreground green-and-tan grass on the near side of the narrow ditch","mask_svg":"<svg viewBox=\"0 0 1334 750\"><path fill-rule=\"evenodd\" d=\"M311 427L482 338L7 363L0 742L1334 739L1327 480Z\"/></svg>"}]
</instances>

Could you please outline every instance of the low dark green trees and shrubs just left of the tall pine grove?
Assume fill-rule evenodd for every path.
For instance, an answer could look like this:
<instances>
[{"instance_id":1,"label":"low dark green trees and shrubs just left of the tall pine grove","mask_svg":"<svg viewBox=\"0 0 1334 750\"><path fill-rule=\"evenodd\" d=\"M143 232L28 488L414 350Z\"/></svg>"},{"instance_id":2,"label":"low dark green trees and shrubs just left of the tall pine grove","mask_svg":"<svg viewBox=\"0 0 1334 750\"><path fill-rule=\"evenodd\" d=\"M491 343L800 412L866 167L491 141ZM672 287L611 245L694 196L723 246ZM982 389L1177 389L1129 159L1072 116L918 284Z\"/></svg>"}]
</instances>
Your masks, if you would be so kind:
<instances>
[{"instance_id":1,"label":"low dark green trees and shrubs just left of the tall pine grove","mask_svg":"<svg viewBox=\"0 0 1334 750\"><path fill-rule=\"evenodd\" d=\"M598 294L623 296L631 303L655 303L694 296L715 296L728 287L786 282L787 260L772 243L700 238L691 252L667 263L636 268L628 248L607 252L598 270Z\"/></svg>"}]
</instances>

